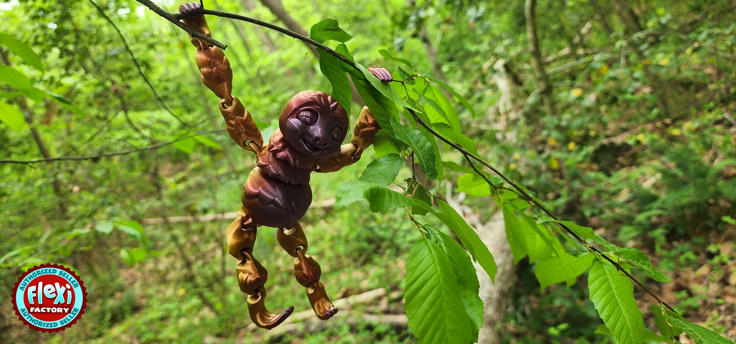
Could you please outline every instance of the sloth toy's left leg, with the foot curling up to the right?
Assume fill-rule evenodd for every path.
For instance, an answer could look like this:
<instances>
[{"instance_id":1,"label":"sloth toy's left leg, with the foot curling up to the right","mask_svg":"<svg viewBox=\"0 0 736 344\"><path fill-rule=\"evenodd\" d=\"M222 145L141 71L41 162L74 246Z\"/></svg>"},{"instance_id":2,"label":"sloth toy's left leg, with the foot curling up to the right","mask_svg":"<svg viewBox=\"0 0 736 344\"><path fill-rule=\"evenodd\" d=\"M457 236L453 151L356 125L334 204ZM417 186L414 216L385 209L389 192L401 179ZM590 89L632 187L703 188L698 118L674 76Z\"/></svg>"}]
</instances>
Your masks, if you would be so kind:
<instances>
[{"instance_id":1,"label":"sloth toy's left leg, with the foot curling up to the right","mask_svg":"<svg viewBox=\"0 0 736 344\"><path fill-rule=\"evenodd\" d=\"M236 271L238 284L242 292L248 296L248 311L256 326L273 329L286 320L294 307L290 306L280 314L272 314L266 309L266 279L268 272L253 258L256 226L252 223L248 211L241 207L238 218L227 228L227 248L230 255L238 259Z\"/></svg>"}]
</instances>

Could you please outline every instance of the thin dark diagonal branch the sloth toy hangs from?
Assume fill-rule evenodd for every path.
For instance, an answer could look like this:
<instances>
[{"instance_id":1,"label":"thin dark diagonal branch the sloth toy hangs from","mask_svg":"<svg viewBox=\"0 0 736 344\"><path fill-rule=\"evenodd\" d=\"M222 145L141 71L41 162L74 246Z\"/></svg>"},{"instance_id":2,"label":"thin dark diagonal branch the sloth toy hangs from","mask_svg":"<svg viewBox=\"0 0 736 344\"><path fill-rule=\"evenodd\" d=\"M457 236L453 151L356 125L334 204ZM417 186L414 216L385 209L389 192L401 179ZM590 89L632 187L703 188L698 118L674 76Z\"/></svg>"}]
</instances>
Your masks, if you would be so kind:
<instances>
[{"instance_id":1,"label":"thin dark diagonal branch the sloth toy hangs from","mask_svg":"<svg viewBox=\"0 0 736 344\"><path fill-rule=\"evenodd\" d=\"M321 44L319 42L316 42L316 41L314 41L311 38L305 37L304 35L300 35L300 34L298 34L296 32L292 32L289 29L285 29L283 27L278 27L277 25L274 25L274 24L271 24L271 23L267 23L265 21L261 21L261 20L255 19L255 18L250 18L250 17L247 17L245 15L237 15L237 14L234 14L234 13L226 13L226 12L214 11L214 10L200 10L200 11L198 11L196 13L188 13L188 14L174 15L173 13L168 13L165 10L162 10L160 7L158 7L155 4L153 4L152 1L150 1L150 0L135 0L135 1L138 1L141 4L146 5L146 7L149 7L151 10L153 10L155 13L159 14L161 17L165 18L166 20L169 20L169 21L173 22L174 24L177 24L178 27L183 27L183 29L185 29L185 31L187 31L187 32L190 32L189 29L188 28L184 28L185 26L183 24L181 24L181 22L178 21L178 20L183 19L183 18L188 18L188 17L190 17L192 15L201 15L201 14L205 14L205 15L216 15L216 16L223 17L223 18L232 18L232 19L236 19L236 20L240 20L240 21L247 21L247 22L252 23L252 24L256 24L256 25L259 25L259 26L262 26L262 27L273 29L273 30L275 30L277 32L283 33L284 35L288 35L289 37L292 37L292 38L297 38L297 39L299 39L301 41L304 41L305 43L309 43L309 44L311 44L313 46L316 46L319 49L323 49L326 52L330 53L330 55L333 55L333 56L339 58L340 60L342 60L348 66L351 66L354 69L358 69L358 66L356 66L355 63L353 63L353 61L351 61L350 59L348 59L344 55L340 54L339 52L336 52L333 49L330 49L328 46L325 46L324 44ZM197 33L199 33L199 32L197 32ZM197 37L199 37L199 36L197 36ZM210 38L206 38L205 37L205 38L202 38L202 39L205 39L205 41L210 42ZM210 42L210 43L212 43L212 42ZM526 192L525 189L523 189L520 186L518 186L516 183L514 183L513 180L511 180L508 177L506 177L506 175L503 175L503 173L500 172L498 169L496 169L495 167L493 167L488 162L484 161L482 158L479 158L477 155L474 155L473 153L468 152L463 147L461 147L459 144L455 144L452 141L450 141L448 138L445 138L445 136L442 136L442 134L437 133L427 123L425 123L424 121L422 121L422 119L420 119L420 117L417 116L417 113L415 113L414 110L411 110L410 108L407 108L406 110L408 110L409 113L411 113L411 115L414 117L414 120L418 124L421 124L422 127L424 127L426 130L428 130L428 132L431 133L433 136L435 136L436 138L439 138L440 140L444 141L445 144L450 145L450 147L453 147L458 152L461 152L461 154L464 156L464 158L466 158L468 160L470 160L470 158L473 158L473 160L478 161L479 163L483 164L488 169L490 169L492 172L494 172L496 175L498 175L500 178L503 178L503 180L506 183L509 183L509 185L512 186L516 192L518 192L521 196L526 197L527 200L529 200L532 203L534 203L535 206L537 206L539 209L541 209L542 211L544 211L545 214L548 214L548 216L551 217L553 220L559 220L554 214L552 214L551 211L549 211L545 206L543 206L542 203L539 203L539 201L537 201L533 196L531 196L531 194L529 194L528 192ZM471 166L473 166L473 164L471 164ZM481 175L481 177L484 177L484 175L482 173L480 173L477 169L475 169L475 166L473 166L473 167L474 167L473 169L475 170L476 173L478 173L478 175ZM493 189L496 188L496 186L493 186L492 183L490 183L490 180L488 180L487 178L484 178L484 179L486 180L486 183L489 183L489 185ZM581 245L583 245L585 248L587 248L587 250L590 250L590 252L592 252L592 253L594 253L594 254L596 254L598 256L603 257L604 259L606 259L606 261L609 261L609 263L613 264L613 266L615 266L619 271L621 271L623 274L625 274L627 277L629 277L629 279L631 279L631 281L634 281L634 283L636 283L639 287L641 287L642 289L644 289L644 291L647 292L649 295L651 295L655 300L657 300L657 302L659 302L663 306L666 306L668 309L670 309L670 311L676 312L670 305L668 305L668 303L665 303L665 301L662 301L662 298L659 298L659 296L655 295L654 292L651 292L651 290L649 290L647 287L645 287L644 284L642 284L639 280L637 280L637 278L634 278L633 275L631 275L623 267L621 267L621 265L618 264L618 262L616 262L613 259L609 258L609 256L606 256L603 252L601 252L601 250L598 250L598 248L595 248L594 246L588 244L585 241L585 239L581 238L581 236L578 236L578 234L576 234L574 231L572 231L566 225L563 225L562 223L559 223L559 222L556 222L556 223L560 227L562 227L568 234L570 234L571 236L573 236L573 238L575 238L578 242L580 242Z\"/></svg>"}]
</instances>

